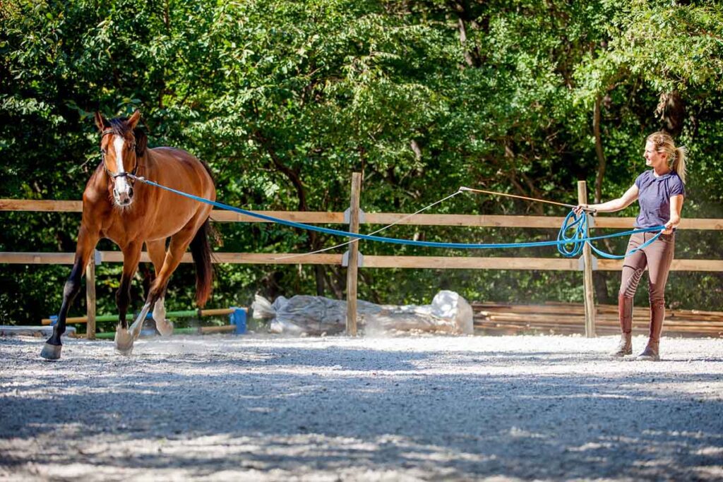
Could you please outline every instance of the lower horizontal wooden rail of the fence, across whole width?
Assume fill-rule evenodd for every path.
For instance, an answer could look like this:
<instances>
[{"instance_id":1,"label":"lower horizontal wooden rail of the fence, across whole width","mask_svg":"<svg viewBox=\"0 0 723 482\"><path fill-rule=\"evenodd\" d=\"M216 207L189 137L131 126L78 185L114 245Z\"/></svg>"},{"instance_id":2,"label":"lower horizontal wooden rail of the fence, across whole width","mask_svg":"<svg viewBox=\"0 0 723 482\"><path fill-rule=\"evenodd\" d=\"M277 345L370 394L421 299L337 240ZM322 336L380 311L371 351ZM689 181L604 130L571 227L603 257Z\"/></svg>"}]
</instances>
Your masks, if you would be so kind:
<instances>
[{"instance_id":1,"label":"lower horizontal wooden rail of the fence, across whole width","mask_svg":"<svg viewBox=\"0 0 723 482\"><path fill-rule=\"evenodd\" d=\"M0 264L73 264L73 253L0 253ZM341 254L294 253L214 253L214 262L228 264L335 264L341 265ZM142 262L150 262L147 252ZM100 251L100 262L123 262L121 251ZM181 262L193 262L190 253ZM442 256L374 256L364 257L365 268L432 268L453 270L557 270L577 271L578 259L514 258L514 257L442 257ZM620 259L598 259L598 270L620 271ZM674 259L672 271L723 271L719 259Z\"/></svg>"}]
</instances>

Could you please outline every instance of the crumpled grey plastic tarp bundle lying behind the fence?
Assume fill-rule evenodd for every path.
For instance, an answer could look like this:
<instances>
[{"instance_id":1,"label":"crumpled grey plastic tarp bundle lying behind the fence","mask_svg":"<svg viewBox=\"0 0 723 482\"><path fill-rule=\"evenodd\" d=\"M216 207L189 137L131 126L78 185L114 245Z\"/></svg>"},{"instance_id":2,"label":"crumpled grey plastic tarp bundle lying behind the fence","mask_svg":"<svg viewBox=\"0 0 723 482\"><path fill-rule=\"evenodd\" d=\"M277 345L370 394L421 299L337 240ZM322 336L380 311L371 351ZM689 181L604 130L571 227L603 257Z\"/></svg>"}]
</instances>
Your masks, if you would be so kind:
<instances>
[{"instance_id":1,"label":"crumpled grey plastic tarp bundle lying behind the fence","mask_svg":"<svg viewBox=\"0 0 723 482\"><path fill-rule=\"evenodd\" d=\"M272 303L256 296L255 319L269 319L270 332L333 335L346 330L346 301L323 296L279 296ZM429 305L377 305L357 301L357 328L366 333L422 331L472 333L472 307L454 291L440 291Z\"/></svg>"}]
</instances>

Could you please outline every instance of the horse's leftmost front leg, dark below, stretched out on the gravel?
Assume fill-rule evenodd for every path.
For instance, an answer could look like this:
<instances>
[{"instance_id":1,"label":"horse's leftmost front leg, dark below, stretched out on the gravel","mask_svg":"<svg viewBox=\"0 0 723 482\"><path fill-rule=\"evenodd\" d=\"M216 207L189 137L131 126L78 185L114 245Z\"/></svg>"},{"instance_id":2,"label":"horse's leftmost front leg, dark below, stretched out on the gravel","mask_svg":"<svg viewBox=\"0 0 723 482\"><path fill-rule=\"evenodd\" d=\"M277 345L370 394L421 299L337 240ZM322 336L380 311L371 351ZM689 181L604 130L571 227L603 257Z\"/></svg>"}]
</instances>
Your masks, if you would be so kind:
<instances>
[{"instance_id":1,"label":"horse's leftmost front leg, dark below, stretched out on the gravel","mask_svg":"<svg viewBox=\"0 0 723 482\"><path fill-rule=\"evenodd\" d=\"M80 226L78 231L78 244L75 248L75 259L73 262L73 269L70 272L68 280L65 282L63 288L63 303L60 306L60 312L58 314L58 321L53 327L53 334L46 344L43 346L43 350L40 351L40 356L46 360L59 360L60 353L63 348L61 343L61 336L65 332L65 320L68 316L68 310L73 304L75 296L80 291L80 280L85 273L85 267L90 260L91 254L95 245L98 244L100 234L96 231L91 231L85 226Z\"/></svg>"}]
</instances>

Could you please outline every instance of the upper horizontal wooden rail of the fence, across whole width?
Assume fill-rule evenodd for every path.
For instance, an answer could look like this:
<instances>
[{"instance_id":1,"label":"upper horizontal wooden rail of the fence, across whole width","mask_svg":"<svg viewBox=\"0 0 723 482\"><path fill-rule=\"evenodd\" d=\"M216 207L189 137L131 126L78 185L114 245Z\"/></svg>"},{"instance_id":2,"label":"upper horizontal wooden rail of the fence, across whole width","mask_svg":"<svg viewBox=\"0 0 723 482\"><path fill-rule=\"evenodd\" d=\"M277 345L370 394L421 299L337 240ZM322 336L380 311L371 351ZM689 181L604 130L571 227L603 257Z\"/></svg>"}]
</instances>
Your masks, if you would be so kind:
<instances>
[{"instance_id":1,"label":"upper horizontal wooden rail of the fence, across whole width","mask_svg":"<svg viewBox=\"0 0 723 482\"><path fill-rule=\"evenodd\" d=\"M38 212L81 212L81 201L53 201L40 199L0 199L0 211L38 211ZM343 212L312 211L254 211L260 214L309 224L343 224ZM408 216L403 213L367 212L362 224L404 225L442 225L487 228L555 228L559 229L564 218L550 216L505 216L505 215L466 215L466 214L418 214ZM269 223L248 215L225 210L213 210L211 219L221 223ZM401 221L401 222L400 222ZM635 218L607 218L596 216L596 228L632 229ZM680 229L723 230L723 219L683 218Z\"/></svg>"}]
</instances>

